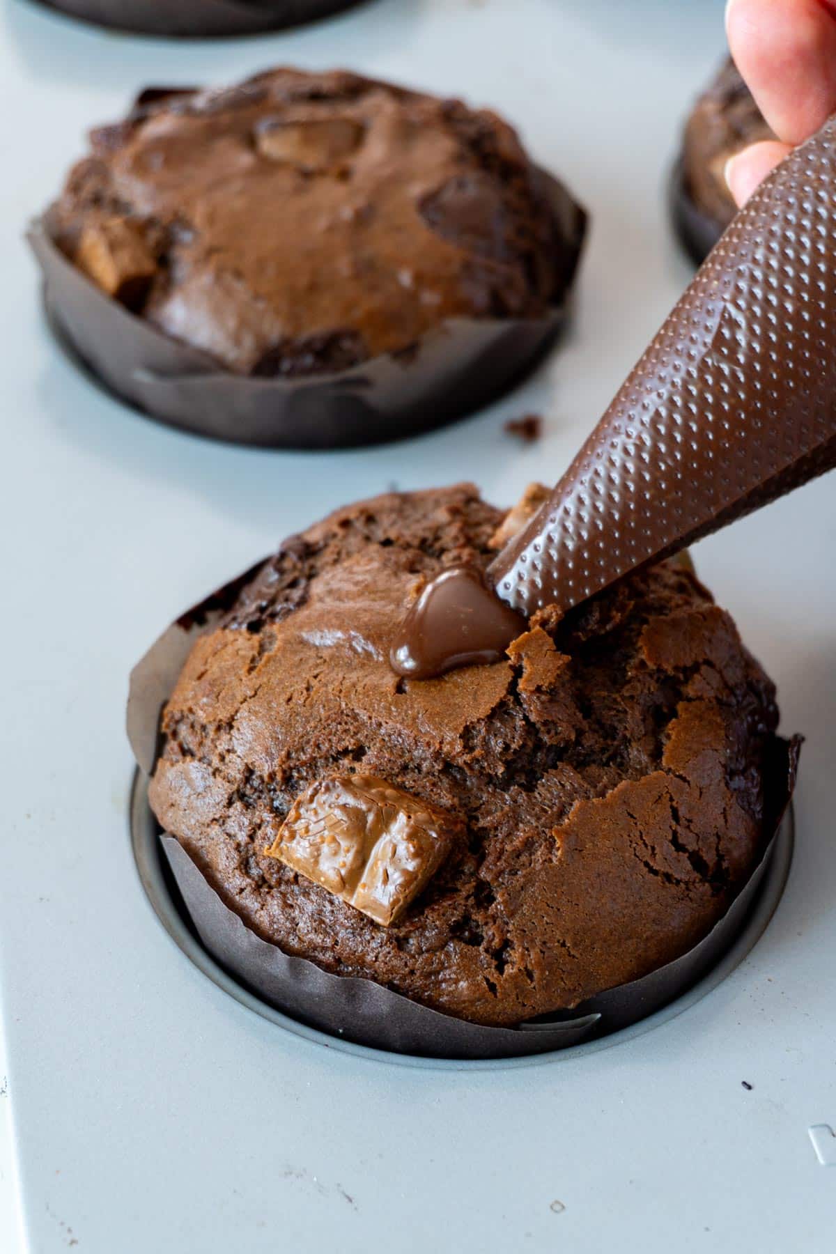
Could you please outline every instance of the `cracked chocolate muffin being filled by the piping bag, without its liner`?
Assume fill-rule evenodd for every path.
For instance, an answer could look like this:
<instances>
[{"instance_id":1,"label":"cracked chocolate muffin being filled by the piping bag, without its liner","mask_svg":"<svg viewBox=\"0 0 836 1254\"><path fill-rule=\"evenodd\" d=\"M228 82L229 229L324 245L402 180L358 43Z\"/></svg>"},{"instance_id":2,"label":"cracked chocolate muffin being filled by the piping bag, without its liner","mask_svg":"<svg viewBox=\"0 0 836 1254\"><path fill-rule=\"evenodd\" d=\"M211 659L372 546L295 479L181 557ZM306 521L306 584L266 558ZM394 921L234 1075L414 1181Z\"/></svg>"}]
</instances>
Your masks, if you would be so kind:
<instances>
[{"instance_id":1,"label":"cracked chocolate muffin being filled by the piping bag, without its liner","mask_svg":"<svg viewBox=\"0 0 836 1254\"><path fill-rule=\"evenodd\" d=\"M677 559L538 613L501 662L399 678L409 599L485 568L539 499L389 494L290 539L194 643L150 782L259 937L484 1025L573 1007L711 929L763 845L777 722Z\"/></svg>"}]
</instances>

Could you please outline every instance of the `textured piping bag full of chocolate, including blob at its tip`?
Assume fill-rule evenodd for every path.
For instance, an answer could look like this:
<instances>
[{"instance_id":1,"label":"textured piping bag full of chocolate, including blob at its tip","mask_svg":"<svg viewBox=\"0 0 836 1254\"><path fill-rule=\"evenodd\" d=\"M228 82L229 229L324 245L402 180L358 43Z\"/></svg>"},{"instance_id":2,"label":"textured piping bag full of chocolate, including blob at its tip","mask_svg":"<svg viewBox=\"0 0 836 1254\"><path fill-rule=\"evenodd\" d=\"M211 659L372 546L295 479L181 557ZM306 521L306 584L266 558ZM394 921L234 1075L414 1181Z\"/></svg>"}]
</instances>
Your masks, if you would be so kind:
<instances>
[{"instance_id":1,"label":"textured piping bag full of chocolate, including blob at its tip","mask_svg":"<svg viewBox=\"0 0 836 1254\"><path fill-rule=\"evenodd\" d=\"M424 678L501 657L509 608L565 612L833 465L836 115L732 221L550 497L488 568L479 608L470 586L456 607L466 572L445 572L441 591L434 581L407 612L392 666Z\"/></svg>"}]
</instances>

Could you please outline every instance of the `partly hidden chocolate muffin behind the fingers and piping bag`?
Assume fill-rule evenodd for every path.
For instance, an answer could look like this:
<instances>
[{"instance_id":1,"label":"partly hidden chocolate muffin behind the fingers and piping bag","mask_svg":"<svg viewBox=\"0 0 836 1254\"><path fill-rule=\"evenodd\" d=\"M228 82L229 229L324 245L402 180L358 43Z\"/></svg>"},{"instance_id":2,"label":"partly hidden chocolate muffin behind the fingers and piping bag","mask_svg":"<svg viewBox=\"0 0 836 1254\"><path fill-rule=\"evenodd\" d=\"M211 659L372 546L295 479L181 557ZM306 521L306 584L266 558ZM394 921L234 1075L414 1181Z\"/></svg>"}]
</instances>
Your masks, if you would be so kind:
<instances>
[{"instance_id":1,"label":"partly hidden chocolate muffin behind the fingers and piping bag","mask_svg":"<svg viewBox=\"0 0 836 1254\"><path fill-rule=\"evenodd\" d=\"M726 183L729 157L761 139L775 139L752 93L729 59L699 97L686 124L678 228L697 260L711 251L737 212Z\"/></svg>"}]
</instances>

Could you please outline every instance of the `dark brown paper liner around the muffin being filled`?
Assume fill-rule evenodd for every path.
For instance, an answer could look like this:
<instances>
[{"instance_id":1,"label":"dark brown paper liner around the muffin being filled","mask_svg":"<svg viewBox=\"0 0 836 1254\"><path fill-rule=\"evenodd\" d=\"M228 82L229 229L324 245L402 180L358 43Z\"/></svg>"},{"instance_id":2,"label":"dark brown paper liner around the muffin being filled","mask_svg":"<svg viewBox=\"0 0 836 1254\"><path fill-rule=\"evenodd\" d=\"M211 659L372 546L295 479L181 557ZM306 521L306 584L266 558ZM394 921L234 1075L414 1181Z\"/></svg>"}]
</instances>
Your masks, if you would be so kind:
<instances>
[{"instance_id":1,"label":"dark brown paper liner around the muffin being filled","mask_svg":"<svg viewBox=\"0 0 836 1254\"><path fill-rule=\"evenodd\" d=\"M128 736L139 771L150 777L159 752L160 715L198 635L211 631L258 566L182 614L130 676ZM645 1018L704 976L732 944L756 900L796 779L800 740L776 740L767 769L771 796L761 858L726 914L674 962L610 988L569 1011L515 1027L483 1027L430 1009L389 988L322 971L249 929L212 888L179 841L160 830L177 888L204 948L268 1004L358 1045L434 1058L509 1058L563 1050Z\"/></svg>"}]
</instances>

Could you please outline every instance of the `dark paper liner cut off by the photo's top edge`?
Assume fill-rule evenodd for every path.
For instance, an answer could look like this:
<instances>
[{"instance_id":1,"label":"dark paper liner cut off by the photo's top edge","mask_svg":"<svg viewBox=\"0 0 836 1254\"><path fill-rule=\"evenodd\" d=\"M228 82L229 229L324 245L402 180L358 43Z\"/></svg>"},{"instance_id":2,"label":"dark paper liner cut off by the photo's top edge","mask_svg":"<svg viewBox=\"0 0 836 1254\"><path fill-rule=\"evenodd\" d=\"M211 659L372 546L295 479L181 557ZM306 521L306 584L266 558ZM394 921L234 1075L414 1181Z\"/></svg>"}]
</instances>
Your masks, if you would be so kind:
<instances>
[{"instance_id":1,"label":"dark paper liner cut off by the photo's top edge","mask_svg":"<svg viewBox=\"0 0 836 1254\"><path fill-rule=\"evenodd\" d=\"M358 0L39 0L98 26L147 35L247 35L295 26Z\"/></svg>"}]
</instances>

